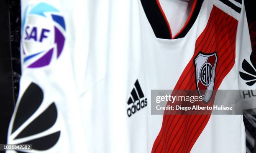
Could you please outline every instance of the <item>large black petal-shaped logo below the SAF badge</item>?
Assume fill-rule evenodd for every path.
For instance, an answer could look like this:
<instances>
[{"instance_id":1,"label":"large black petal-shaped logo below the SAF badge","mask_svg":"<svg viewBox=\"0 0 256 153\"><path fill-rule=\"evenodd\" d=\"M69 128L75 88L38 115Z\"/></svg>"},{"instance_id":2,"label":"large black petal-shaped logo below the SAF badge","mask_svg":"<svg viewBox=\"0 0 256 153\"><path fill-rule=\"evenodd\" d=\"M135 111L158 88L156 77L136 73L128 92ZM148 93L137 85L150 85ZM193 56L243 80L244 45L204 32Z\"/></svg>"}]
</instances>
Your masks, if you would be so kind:
<instances>
[{"instance_id":1,"label":"large black petal-shaped logo below the SAF badge","mask_svg":"<svg viewBox=\"0 0 256 153\"><path fill-rule=\"evenodd\" d=\"M35 119L27 122L34 117L43 99L43 90L35 83L31 83L22 95L20 103L17 104L18 108L13 123L10 124L9 144L32 144L32 150L43 151L52 148L57 143L60 130L46 131L53 127L57 120L57 108L54 102L35 116ZM44 134L42 134L43 132ZM15 151L20 152L19 150Z\"/></svg>"}]
</instances>

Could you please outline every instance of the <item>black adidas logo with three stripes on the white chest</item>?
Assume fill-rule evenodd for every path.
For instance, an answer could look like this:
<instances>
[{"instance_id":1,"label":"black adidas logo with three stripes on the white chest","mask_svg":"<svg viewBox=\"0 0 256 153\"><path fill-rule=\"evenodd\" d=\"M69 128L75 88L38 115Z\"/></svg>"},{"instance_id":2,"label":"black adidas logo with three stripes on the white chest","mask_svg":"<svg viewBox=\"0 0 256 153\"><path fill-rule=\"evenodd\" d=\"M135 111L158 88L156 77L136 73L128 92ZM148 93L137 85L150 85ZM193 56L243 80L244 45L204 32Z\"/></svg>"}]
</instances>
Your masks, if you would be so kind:
<instances>
[{"instance_id":1,"label":"black adidas logo with three stripes on the white chest","mask_svg":"<svg viewBox=\"0 0 256 153\"><path fill-rule=\"evenodd\" d=\"M135 114L137 111L148 105L147 98L144 98L144 94L141 90L141 85L138 82L138 79L134 83L135 88L131 91L131 96L128 99L128 109L127 115L131 117L131 115Z\"/></svg>"}]
</instances>

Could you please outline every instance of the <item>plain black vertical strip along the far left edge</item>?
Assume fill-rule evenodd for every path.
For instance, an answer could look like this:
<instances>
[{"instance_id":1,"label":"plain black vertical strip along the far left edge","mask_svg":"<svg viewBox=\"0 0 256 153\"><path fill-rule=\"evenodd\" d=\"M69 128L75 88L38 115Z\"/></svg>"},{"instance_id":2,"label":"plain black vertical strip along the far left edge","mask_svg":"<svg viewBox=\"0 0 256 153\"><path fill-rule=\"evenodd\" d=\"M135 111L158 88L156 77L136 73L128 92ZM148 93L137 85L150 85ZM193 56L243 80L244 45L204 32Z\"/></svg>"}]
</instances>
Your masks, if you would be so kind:
<instances>
[{"instance_id":1,"label":"plain black vertical strip along the far left edge","mask_svg":"<svg viewBox=\"0 0 256 153\"><path fill-rule=\"evenodd\" d=\"M9 1L0 0L0 144L6 144L14 107Z\"/></svg>"}]
</instances>

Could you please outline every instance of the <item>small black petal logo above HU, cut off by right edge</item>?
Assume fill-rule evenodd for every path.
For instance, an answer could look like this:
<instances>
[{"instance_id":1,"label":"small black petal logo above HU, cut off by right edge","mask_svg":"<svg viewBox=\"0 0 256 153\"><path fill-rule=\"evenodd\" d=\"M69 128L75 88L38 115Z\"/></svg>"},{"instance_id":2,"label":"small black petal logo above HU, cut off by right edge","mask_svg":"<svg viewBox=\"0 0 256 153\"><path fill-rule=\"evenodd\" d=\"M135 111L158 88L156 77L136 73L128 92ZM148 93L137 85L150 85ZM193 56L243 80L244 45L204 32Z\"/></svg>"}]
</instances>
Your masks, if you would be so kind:
<instances>
[{"instance_id":1,"label":"small black petal logo above HU, cut off by right edge","mask_svg":"<svg viewBox=\"0 0 256 153\"><path fill-rule=\"evenodd\" d=\"M253 66L251 66L247 60L243 60L242 68L246 73L239 72L240 77L243 80L246 80L247 85L254 85L256 83L256 53L252 52L250 56L250 61Z\"/></svg>"}]
</instances>

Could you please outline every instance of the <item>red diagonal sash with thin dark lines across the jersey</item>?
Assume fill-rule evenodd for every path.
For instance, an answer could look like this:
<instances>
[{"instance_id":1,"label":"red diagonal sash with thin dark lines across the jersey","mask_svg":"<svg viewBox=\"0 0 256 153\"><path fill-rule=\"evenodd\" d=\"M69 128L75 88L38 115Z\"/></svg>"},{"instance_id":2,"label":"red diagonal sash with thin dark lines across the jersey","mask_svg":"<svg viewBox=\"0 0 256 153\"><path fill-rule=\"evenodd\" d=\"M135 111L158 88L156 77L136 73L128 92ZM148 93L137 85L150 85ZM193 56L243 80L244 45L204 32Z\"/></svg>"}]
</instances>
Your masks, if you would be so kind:
<instances>
[{"instance_id":1,"label":"red diagonal sash with thin dark lines across the jersey","mask_svg":"<svg viewBox=\"0 0 256 153\"><path fill-rule=\"evenodd\" d=\"M218 89L235 62L237 23L236 19L213 6L207 26L196 41L195 53L180 76L175 90L196 90L193 60L200 51L204 53L216 51L218 55L214 88ZM208 60L210 63L215 61ZM206 105L213 105L213 100L204 104ZM205 110L205 113L208 111ZM152 153L189 153L209 119L210 115L164 115Z\"/></svg>"}]
</instances>

